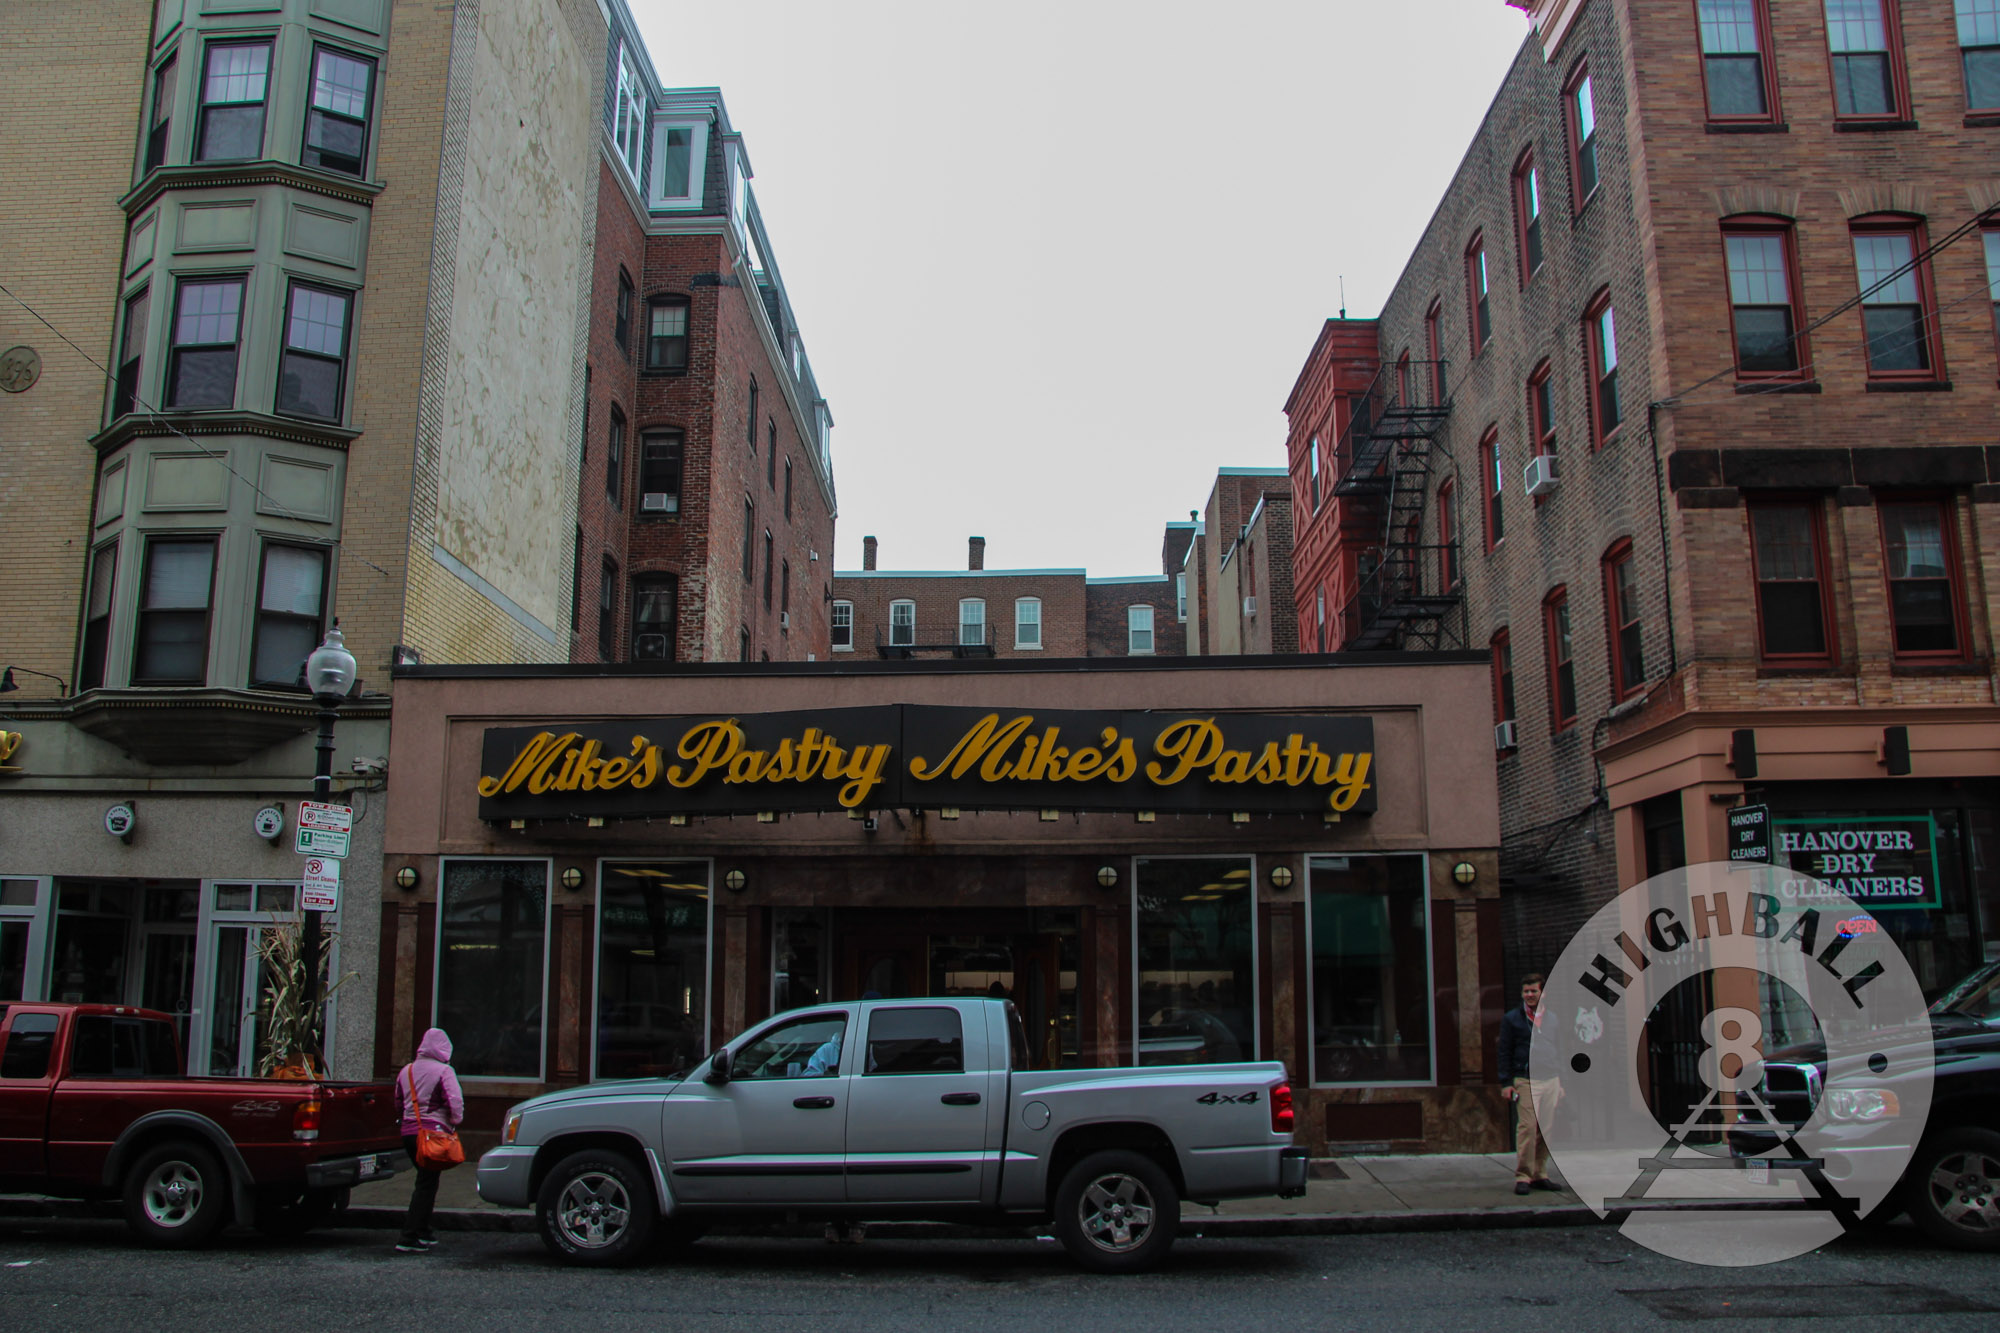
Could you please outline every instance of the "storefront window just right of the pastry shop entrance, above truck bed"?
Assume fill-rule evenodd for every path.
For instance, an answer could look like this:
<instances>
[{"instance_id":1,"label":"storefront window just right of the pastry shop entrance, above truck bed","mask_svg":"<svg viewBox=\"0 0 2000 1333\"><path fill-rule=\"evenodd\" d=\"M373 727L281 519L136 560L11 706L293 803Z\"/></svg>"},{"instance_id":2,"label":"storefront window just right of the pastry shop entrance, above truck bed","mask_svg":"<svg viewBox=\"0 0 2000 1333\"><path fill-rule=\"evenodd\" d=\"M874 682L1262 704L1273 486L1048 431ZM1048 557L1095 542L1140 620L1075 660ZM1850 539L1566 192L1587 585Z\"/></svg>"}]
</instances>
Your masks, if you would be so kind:
<instances>
[{"instance_id":1,"label":"storefront window just right of the pastry shop entrance, above truck bed","mask_svg":"<svg viewBox=\"0 0 2000 1333\"><path fill-rule=\"evenodd\" d=\"M1256 941L1248 857L1138 861L1138 1063L1256 1055Z\"/></svg>"}]
</instances>

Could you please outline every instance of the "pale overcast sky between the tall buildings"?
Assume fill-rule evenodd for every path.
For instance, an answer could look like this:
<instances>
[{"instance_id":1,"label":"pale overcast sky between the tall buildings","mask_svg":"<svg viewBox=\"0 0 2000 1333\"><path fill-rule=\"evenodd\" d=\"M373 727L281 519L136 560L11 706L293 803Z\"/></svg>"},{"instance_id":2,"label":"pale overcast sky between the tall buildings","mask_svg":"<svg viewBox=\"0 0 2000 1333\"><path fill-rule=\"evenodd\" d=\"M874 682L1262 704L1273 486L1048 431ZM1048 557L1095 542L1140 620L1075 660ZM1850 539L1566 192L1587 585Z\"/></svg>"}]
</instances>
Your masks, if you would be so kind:
<instances>
[{"instance_id":1,"label":"pale overcast sky between the tall buildings","mask_svg":"<svg viewBox=\"0 0 2000 1333\"><path fill-rule=\"evenodd\" d=\"M834 412L836 566L1160 572L1284 466L1528 34L1502 0L630 0L720 86Z\"/></svg>"}]
</instances>

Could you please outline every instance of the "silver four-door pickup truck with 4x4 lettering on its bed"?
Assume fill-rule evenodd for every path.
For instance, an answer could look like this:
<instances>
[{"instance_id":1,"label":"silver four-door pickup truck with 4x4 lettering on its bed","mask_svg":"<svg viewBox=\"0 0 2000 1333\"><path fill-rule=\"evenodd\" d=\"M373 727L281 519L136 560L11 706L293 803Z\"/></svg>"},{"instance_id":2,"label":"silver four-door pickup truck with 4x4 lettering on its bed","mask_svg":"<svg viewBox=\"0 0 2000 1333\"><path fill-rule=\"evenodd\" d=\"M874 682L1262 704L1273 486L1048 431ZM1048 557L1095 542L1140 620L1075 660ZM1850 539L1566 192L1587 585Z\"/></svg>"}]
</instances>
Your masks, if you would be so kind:
<instances>
[{"instance_id":1,"label":"silver four-door pickup truck with 4x4 lettering on its bed","mask_svg":"<svg viewBox=\"0 0 2000 1333\"><path fill-rule=\"evenodd\" d=\"M534 1205L572 1263L718 1219L1052 1223L1100 1273L1158 1265L1180 1201L1306 1191L1284 1065L1030 1071L1002 999L776 1015L678 1079L512 1107L488 1203Z\"/></svg>"}]
</instances>

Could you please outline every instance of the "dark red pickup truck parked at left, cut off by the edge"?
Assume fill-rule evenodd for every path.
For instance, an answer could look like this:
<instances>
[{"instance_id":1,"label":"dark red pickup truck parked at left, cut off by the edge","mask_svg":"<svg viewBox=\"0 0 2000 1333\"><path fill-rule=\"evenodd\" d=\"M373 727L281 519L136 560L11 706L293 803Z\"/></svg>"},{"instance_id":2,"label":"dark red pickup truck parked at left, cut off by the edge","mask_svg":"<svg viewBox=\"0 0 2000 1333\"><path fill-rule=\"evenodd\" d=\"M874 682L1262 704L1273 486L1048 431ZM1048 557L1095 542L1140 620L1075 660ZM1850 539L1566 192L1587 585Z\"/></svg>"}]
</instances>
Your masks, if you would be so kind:
<instances>
[{"instance_id":1,"label":"dark red pickup truck parked at left, cut off by the edge","mask_svg":"<svg viewBox=\"0 0 2000 1333\"><path fill-rule=\"evenodd\" d=\"M404 1161L392 1083L190 1079L164 1013L0 1005L0 1193L120 1199L140 1241L296 1235Z\"/></svg>"}]
</instances>

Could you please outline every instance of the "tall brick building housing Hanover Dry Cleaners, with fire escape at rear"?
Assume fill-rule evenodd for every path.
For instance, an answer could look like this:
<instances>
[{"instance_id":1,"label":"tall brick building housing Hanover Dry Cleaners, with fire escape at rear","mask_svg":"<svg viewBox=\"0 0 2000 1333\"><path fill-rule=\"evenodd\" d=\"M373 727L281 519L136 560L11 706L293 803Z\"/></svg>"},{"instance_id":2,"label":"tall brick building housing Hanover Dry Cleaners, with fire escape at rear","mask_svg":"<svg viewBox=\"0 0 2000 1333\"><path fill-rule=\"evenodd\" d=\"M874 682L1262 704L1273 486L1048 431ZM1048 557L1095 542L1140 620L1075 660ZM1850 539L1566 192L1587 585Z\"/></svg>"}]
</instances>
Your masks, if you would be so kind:
<instances>
[{"instance_id":1,"label":"tall brick building housing Hanover Dry Cleaners, with fire escape at rear","mask_svg":"<svg viewBox=\"0 0 2000 1333\"><path fill-rule=\"evenodd\" d=\"M1336 646L1492 650L1510 973L1764 805L1942 987L2000 957L2000 12L1518 8L1380 318L1294 390L1300 584ZM1826 829L1910 839L1844 877Z\"/></svg>"}]
</instances>

